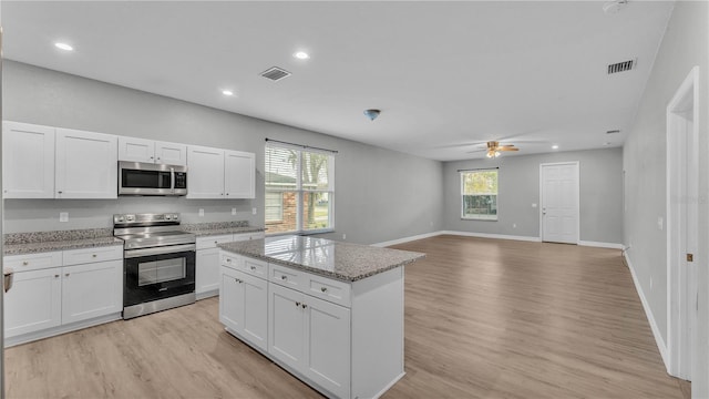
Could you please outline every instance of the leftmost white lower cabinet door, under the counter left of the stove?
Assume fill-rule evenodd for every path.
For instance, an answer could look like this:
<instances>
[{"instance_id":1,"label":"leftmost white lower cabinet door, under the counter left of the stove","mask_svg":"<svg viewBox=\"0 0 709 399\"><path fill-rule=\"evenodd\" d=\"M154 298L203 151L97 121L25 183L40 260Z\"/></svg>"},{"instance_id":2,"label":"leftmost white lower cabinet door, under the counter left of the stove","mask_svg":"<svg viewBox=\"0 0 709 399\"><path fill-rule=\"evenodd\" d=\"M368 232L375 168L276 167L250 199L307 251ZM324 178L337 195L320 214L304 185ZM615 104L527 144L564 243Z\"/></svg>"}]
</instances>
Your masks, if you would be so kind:
<instances>
[{"instance_id":1,"label":"leftmost white lower cabinet door, under the counter left of the stove","mask_svg":"<svg viewBox=\"0 0 709 399\"><path fill-rule=\"evenodd\" d=\"M56 327L62 317L61 268L16 273L4 294L4 337Z\"/></svg>"}]
</instances>

